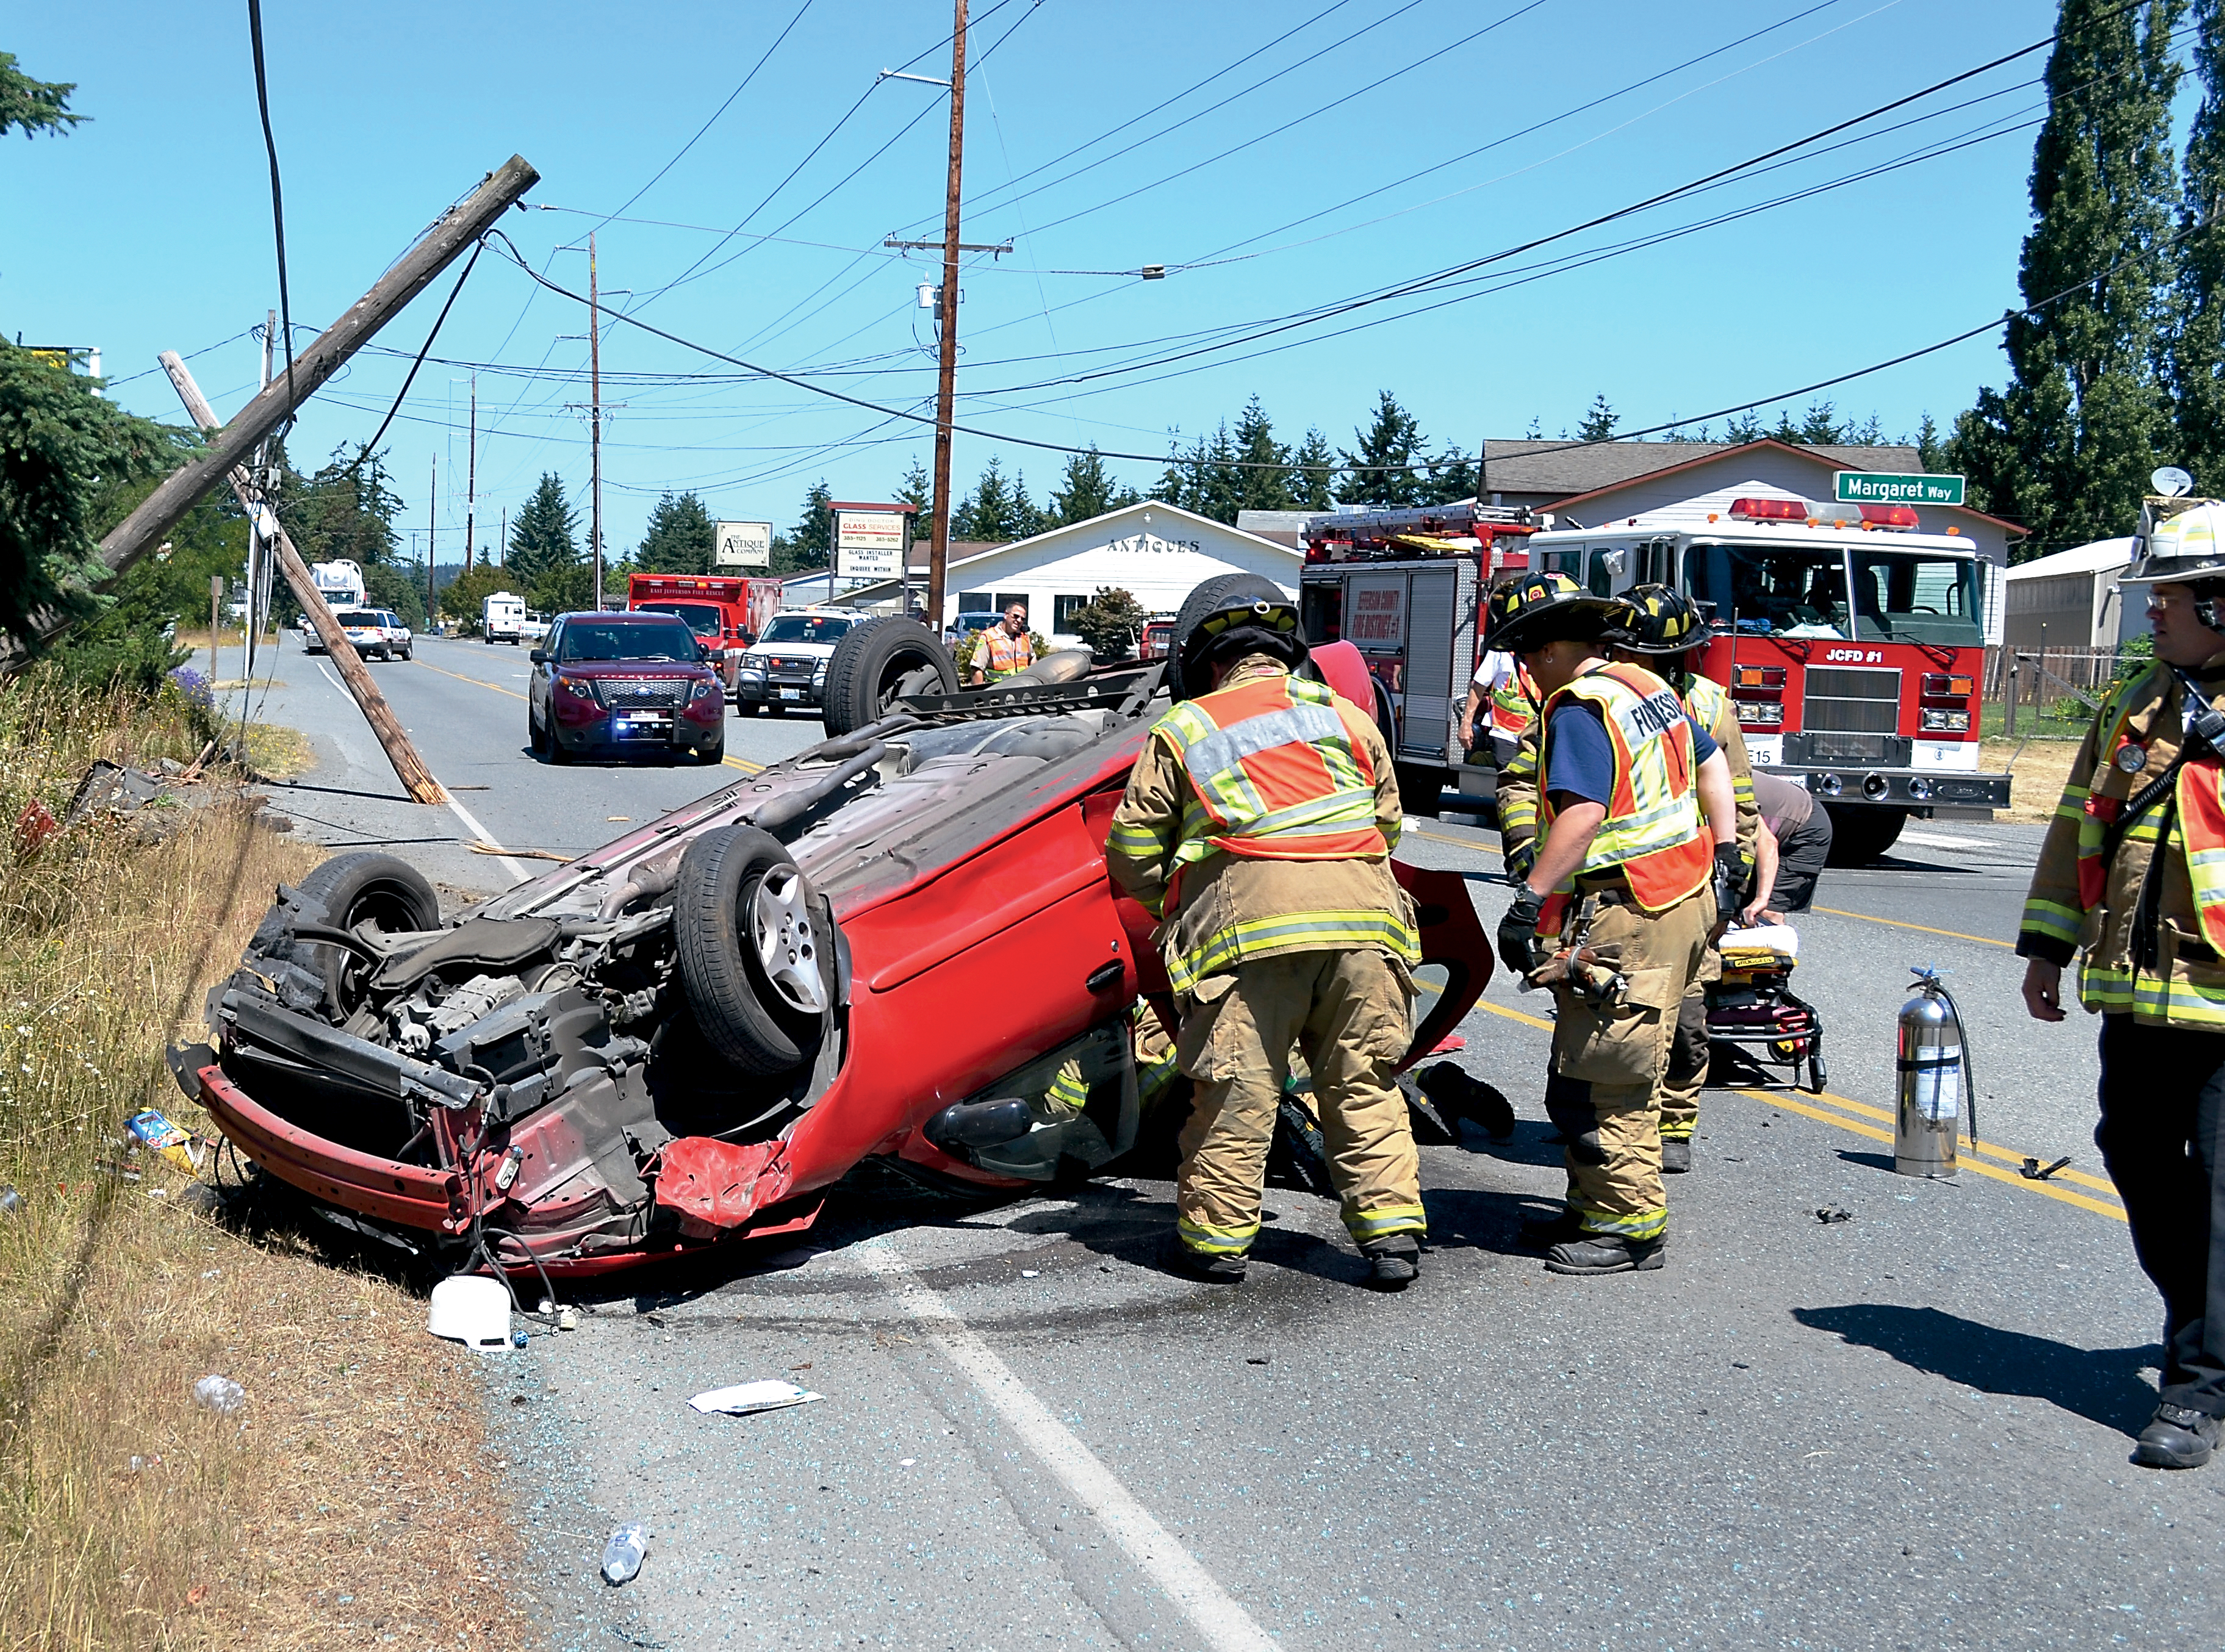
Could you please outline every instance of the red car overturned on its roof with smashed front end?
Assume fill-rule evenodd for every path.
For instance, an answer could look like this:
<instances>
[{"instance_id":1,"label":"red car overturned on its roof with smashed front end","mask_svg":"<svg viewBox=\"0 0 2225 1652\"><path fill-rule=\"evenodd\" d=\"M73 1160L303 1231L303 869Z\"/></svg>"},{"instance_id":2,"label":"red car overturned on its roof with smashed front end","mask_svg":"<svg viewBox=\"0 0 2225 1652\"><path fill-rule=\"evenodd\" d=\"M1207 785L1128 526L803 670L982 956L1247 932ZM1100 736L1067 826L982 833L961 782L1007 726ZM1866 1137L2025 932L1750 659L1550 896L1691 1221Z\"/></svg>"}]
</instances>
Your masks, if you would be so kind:
<instances>
[{"instance_id":1,"label":"red car overturned on its roof with smashed front end","mask_svg":"<svg viewBox=\"0 0 2225 1652\"><path fill-rule=\"evenodd\" d=\"M801 1232L868 1158L975 1194L1119 1165L1130 1027L1173 1009L1104 843L1164 671L899 705L447 923L405 863L343 854L174 1067L332 1221L550 1274ZM1460 874L1393 869L1411 1063L1491 945Z\"/></svg>"}]
</instances>

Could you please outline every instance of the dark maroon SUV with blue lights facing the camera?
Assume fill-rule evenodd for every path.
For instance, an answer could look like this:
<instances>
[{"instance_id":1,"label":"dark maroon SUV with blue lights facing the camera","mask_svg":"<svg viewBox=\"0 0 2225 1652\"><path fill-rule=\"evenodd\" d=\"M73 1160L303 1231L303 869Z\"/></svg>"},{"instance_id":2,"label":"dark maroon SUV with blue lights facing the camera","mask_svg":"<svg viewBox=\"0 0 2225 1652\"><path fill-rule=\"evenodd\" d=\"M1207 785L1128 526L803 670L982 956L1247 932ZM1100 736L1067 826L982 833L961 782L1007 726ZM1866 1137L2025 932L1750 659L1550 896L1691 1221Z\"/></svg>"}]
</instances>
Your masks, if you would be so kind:
<instances>
[{"instance_id":1,"label":"dark maroon SUV with blue lights facing the camera","mask_svg":"<svg viewBox=\"0 0 2225 1652\"><path fill-rule=\"evenodd\" d=\"M670 614L563 614L532 658L525 736L550 763L692 752L725 760L725 689Z\"/></svg>"}]
</instances>

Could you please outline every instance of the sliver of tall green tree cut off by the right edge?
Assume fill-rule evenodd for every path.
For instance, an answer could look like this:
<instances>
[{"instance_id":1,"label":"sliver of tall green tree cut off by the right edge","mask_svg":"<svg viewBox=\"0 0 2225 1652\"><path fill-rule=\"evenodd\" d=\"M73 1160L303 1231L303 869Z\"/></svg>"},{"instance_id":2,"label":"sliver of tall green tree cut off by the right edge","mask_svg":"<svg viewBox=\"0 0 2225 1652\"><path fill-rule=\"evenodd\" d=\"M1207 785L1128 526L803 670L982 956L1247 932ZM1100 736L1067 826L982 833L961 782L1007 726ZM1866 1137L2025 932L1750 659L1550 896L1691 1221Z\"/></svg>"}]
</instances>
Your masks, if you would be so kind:
<instances>
[{"instance_id":1,"label":"sliver of tall green tree cut off by the right edge","mask_svg":"<svg viewBox=\"0 0 2225 1652\"><path fill-rule=\"evenodd\" d=\"M2194 73L2201 107L2187 129L2180 205L2172 398L2178 411L2174 462L2194 487L2225 487L2225 0L2194 4Z\"/></svg>"}]
</instances>

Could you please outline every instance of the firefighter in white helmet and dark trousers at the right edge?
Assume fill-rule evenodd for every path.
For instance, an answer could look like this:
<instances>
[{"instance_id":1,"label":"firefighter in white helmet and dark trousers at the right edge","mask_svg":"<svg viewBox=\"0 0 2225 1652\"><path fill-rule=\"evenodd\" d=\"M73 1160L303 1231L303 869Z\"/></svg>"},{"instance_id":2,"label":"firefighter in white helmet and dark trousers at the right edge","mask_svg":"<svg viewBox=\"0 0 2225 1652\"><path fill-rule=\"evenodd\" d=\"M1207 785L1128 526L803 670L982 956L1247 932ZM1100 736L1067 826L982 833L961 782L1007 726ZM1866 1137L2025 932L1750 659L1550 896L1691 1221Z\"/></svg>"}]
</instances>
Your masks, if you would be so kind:
<instances>
[{"instance_id":1,"label":"firefighter in white helmet and dark trousers at the right edge","mask_svg":"<svg viewBox=\"0 0 2225 1652\"><path fill-rule=\"evenodd\" d=\"M2160 518L2160 520L2156 520ZM2071 763L2016 949L2025 1007L2063 967L2100 1014L2100 1147L2163 1294L2163 1383L2132 1459L2201 1467L2225 1416L2225 505L2149 500L2138 556L2156 663Z\"/></svg>"}]
</instances>

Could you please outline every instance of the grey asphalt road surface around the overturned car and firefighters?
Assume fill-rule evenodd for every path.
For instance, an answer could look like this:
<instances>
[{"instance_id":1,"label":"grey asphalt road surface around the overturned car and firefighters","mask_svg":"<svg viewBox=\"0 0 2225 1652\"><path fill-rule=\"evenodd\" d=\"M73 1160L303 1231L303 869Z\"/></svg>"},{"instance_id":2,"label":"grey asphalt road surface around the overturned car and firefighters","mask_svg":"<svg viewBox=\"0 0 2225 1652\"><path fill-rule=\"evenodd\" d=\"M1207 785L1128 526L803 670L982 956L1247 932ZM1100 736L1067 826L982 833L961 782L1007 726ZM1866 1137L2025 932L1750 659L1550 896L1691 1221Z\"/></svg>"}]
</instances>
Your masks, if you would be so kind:
<instances>
[{"instance_id":1,"label":"grey asphalt road surface around the overturned car and firefighters","mask_svg":"<svg viewBox=\"0 0 2225 1652\"><path fill-rule=\"evenodd\" d=\"M505 698L523 669L467 643L374 665L434 772L487 787L461 794L467 825L396 803L345 698L287 651L267 714L309 729L320 767L280 803L494 889L503 863L467 838L570 854L732 778L534 763ZM814 736L736 718L728 752ZM1424 1150L1433 1252L1404 1296L1359 1290L1335 1207L1284 1190L1239 1290L1173 1281L1150 1267L1173 1223L1155 1181L995 1207L877 1185L777 1256L590 1296L578 1332L487 1361L552 1639L2218 1643L2225 1465L2127 1463L2158 1305L2089 1141L2094 1027L2040 1027L2016 998L2036 843L1927 823L1824 876L1796 985L1829 1089L1709 1092L1658 1274L1569 1281L1517 1250L1560 1185L1544 1003L1493 989L1460 1061L1522 1125ZM1493 834L1417 823L1402 854L1460 869L1495 923ZM1969 1021L1987 1147L1954 1183L1891 1174L1911 963L1947 969ZM2025 1181L2025 1154L2071 1172ZM685 1405L761 1376L825 1399ZM654 1539L607 1590L621 1519Z\"/></svg>"}]
</instances>

